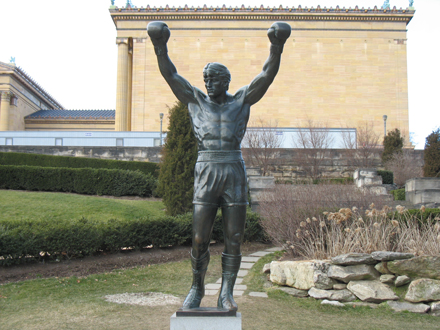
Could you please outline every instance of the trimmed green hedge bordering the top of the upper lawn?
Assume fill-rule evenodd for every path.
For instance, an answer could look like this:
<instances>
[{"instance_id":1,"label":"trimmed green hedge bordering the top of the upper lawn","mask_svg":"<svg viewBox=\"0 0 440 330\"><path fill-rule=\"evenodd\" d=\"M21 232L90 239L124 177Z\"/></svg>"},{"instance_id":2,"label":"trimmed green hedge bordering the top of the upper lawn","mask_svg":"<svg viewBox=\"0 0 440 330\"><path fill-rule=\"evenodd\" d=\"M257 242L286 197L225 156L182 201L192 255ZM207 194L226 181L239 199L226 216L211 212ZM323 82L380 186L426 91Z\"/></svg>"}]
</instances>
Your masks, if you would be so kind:
<instances>
[{"instance_id":1,"label":"trimmed green hedge bordering the top of the upper lawn","mask_svg":"<svg viewBox=\"0 0 440 330\"><path fill-rule=\"evenodd\" d=\"M156 181L140 171L0 165L0 189L151 196Z\"/></svg>"}]
</instances>

